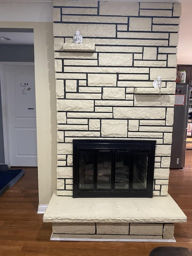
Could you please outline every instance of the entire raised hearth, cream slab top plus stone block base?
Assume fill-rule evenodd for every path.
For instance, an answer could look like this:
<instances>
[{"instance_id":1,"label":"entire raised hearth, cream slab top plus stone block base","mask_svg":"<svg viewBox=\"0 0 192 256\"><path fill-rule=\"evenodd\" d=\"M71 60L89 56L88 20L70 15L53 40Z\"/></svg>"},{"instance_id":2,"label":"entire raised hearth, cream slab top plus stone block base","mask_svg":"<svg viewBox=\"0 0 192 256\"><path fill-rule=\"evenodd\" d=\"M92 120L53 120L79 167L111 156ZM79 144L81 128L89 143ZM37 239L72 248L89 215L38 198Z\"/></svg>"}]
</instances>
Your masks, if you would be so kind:
<instances>
[{"instance_id":1,"label":"entire raised hearth, cream slab top plus stone block base","mask_svg":"<svg viewBox=\"0 0 192 256\"><path fill-rule=\"evenodd\" d=\"M43 218L51 240L174 240L174 223L187 217L172 199L73 198L53 194ZM107 240L106 240L107 241Z\"/></svg>"}]
</instances>

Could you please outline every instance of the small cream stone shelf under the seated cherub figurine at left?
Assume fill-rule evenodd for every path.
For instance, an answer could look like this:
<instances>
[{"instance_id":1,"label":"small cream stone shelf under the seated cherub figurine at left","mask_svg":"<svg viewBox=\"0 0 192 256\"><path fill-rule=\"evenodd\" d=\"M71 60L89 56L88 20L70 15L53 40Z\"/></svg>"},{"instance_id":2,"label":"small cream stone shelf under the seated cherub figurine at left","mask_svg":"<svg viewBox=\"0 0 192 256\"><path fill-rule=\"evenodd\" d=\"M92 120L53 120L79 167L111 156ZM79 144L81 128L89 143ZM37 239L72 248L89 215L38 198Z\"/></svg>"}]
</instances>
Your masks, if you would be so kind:
<instances>
[{"instance_id":1,"label":"small cream stone shelf under the seated cherub figurine at left","mask_svg":"<svg viewBox=\"0 0 192 256\"><path fill-rule=\"evenodd\" d=\"M64 51L72 51L72 52L95 52L95 44L63 44Z\"/></svg>"}]
</instances>

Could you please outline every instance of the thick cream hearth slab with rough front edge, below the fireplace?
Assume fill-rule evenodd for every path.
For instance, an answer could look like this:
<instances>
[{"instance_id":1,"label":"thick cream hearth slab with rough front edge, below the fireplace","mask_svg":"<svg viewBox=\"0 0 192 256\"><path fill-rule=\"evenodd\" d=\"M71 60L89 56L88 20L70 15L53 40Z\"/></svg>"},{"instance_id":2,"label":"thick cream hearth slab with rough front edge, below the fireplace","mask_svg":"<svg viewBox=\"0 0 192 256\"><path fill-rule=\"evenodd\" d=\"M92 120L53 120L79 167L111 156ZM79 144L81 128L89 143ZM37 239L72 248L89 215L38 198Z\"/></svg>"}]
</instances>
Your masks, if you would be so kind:
<instances>
[{"instance_id":1,"label":"thick cream hearth slab with rough front edge, below the fireplace","mask_svg":"<svg viewBox=\"0 0 192 256\"><path fill-rule=\"evenodd\" d=\"M187 217L168 194L153 198L73 198L53 193L44 222L181 223Z\"/></svg>"}]
</instances>

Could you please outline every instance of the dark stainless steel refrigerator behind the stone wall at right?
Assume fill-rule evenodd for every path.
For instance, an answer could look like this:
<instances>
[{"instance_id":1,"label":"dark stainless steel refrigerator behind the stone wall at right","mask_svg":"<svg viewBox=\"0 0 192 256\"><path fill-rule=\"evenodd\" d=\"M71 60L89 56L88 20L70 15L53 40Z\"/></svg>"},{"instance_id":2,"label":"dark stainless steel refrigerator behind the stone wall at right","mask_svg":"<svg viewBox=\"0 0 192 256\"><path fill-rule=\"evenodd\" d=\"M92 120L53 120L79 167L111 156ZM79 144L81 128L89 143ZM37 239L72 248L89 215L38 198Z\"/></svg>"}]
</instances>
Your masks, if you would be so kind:
<instances>
[{"instance_id":1,"label":"dark stainless steel refrigerator behind the stone wall at right","mask_svg":"<svg viewBox=\"0 0 192 256\"><path fill-rule=\"evenodd\" d=\"M190 97L189 85L186 83L177 83L175 97L170 168L182 169L185 165L187 143L187 123Z\"/></svg>"}]
</instances>

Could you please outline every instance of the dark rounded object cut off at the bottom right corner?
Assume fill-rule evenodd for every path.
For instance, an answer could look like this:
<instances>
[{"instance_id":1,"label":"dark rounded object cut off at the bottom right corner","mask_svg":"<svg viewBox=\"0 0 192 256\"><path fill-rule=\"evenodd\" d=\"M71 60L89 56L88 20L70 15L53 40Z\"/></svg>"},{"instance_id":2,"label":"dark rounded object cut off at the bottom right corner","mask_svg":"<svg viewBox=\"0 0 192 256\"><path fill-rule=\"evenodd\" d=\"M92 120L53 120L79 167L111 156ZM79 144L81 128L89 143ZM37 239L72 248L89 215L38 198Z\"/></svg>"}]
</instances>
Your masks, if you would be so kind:
<instances>
[{"instance_id":1,"label":"dark rounded object cut off at the bottom right corner","mask_svg":"<svg viewBox=\"0 0 192 256\"><path fill-rule=\"evenodd\" d=\"M192 256L192 250L185 247L162 246L153 249L149 256Z\"/></svg>"}]
</instances>

